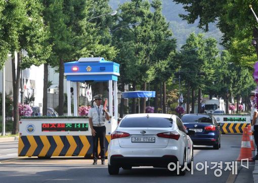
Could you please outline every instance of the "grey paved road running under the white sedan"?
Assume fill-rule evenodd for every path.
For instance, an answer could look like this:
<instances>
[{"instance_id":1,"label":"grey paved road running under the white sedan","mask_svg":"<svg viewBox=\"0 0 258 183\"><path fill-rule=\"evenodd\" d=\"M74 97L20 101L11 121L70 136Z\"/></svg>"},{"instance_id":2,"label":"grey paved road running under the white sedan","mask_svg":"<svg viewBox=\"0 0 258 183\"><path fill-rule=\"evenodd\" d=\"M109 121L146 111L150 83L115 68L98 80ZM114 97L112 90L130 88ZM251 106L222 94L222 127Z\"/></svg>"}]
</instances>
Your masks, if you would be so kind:
<instances>
[{"instance_id":1,"label":"grey paved road running under the white sedan","mask_svg":"<svg viewBox=\"0 0 258 183\"><path fill-rule=\"evenodd\" d=\"M196 146L194 163L231 162L239 155L242 135L222 135L222 148L213 150L211 147ZM14 144L0 145L0 150L9 148L12 153ZM17 147L17 145L16 145ZM0 151L1 152L1 151ZM0 153L3 154L3 153ZM171 175L166 169L140 167L132 170L120 169L119 175L109 175L107 165L91 165L92 160L81 158L19 158L2 161L0 164L0 182L226 182L230 171L224 171L216 177L213 170L187 172L185 176ZM252 165L252 163L250 163ZM225 168L224 166L223 168ZM253 166L252 166L253 167ZM216 168L215 168L216 169ZM242 170L241 170L242 171ZM251 172L251 171L248 171ZM251 182L252 178L243 182Z\"/></svg>"}]
</instances>

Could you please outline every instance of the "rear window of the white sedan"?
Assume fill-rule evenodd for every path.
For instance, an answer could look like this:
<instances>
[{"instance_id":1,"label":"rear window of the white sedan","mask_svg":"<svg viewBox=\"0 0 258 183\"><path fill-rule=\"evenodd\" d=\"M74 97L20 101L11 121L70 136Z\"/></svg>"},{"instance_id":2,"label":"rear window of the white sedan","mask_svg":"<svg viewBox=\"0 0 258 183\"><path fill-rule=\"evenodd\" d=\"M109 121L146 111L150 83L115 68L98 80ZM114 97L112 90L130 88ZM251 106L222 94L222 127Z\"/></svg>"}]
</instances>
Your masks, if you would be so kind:
<instances>
[{"instance_id":1,"label":"rear window of the white sedan","mask_svg":"<svg viewBox=\"0 0 258 183\"><path fill-rule=\"evenodd\" d=\"M170 128L173 119L160 117L129 117L121 121L120 127L125 128Z\"/></svg>"}]
</instances>

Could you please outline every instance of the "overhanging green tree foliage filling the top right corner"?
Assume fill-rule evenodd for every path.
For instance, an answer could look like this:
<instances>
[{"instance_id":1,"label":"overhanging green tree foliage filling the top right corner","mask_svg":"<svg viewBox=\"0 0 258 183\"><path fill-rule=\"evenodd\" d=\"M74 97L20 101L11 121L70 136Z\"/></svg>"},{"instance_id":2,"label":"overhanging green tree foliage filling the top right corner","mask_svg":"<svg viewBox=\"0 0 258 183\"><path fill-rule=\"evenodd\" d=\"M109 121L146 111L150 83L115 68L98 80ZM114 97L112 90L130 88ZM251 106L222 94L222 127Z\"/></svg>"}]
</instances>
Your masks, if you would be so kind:
<instances>
[{"instance_id":1,"label":"overhanging green tree foliage filling the top right corner","mask_svg":"<svg viewBox=\"0 0 258 183\"><path fill-rule=\"evenodd\" d=\"M231 0L201 0L198 3L192 3L190 0L174 0L174 2L183 4L183 8L188 14L180 16L188 23L194 23L198 19L198 27L205 31L208 30L209 23L217 23L223 33L224 47L234 56L232 57L233 62L250 67L257 59L255 49L250 45L252 30L256 22L249 9L249 5L252 5L253 10L257 12L258 2L256 0L236 0L234 2ZM258 49L258 47L256 48ZM258 50L256 53L258 54Z\"/></svg>"}]
</instances>

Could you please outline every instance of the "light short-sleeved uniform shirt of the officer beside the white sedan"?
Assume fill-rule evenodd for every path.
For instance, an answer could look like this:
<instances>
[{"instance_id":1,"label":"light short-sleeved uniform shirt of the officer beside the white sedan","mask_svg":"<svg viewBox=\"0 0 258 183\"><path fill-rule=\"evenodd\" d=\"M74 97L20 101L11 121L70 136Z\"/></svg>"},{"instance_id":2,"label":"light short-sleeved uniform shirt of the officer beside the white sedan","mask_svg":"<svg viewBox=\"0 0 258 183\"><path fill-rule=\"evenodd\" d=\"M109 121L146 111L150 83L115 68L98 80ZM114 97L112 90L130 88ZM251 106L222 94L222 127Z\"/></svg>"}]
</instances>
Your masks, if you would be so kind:
<instances>
[{"instance_id":1,"label":"light short-sleeved uniform shirt of the officer beside the white sedan","mask_svg":"<svg viewBox=\"0 0 258 183\"><path fill-rule=\"evenodd\" d=\"M103 106L95 105L89 110L88 117L92 118L93 126L104 126L106 123L106 114L103 115ZM108 114L109 115L109 114Z\"/></svg>"}]
</instances>

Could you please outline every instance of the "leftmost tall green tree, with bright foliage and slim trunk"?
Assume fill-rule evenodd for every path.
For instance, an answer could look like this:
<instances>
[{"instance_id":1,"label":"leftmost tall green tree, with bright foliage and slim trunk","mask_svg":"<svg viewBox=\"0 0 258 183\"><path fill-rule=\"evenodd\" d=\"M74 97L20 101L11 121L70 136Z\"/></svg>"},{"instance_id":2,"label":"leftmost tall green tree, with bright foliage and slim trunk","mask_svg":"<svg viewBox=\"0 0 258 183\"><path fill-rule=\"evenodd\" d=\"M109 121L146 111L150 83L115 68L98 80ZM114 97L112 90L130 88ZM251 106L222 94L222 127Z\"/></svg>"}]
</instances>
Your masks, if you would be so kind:
<instances>
[{"instance_id":1,"label":"leftmost tall green tree, with bright foliage and slim trunk","mask_svg":"<svg viewBox=\"0 0 258 183\"><path fill-rule=\"evenodd\" d=\"M1 35L0 42L3 45L2 52L12 54L13 77L13 108L14 123L12 133L18 132L18 100L20 86L20 71L31 65L39 66L50 55L51 46L44 44L48 37L48 31L42 22L42 5L37 0L13 0L2 1L1 6ZM26 52L26 57L22 56ZM17 67L15 64L15 52L17 52ZM21 62L22 60L22 62Z\"/></svg>"}]
</instances>

